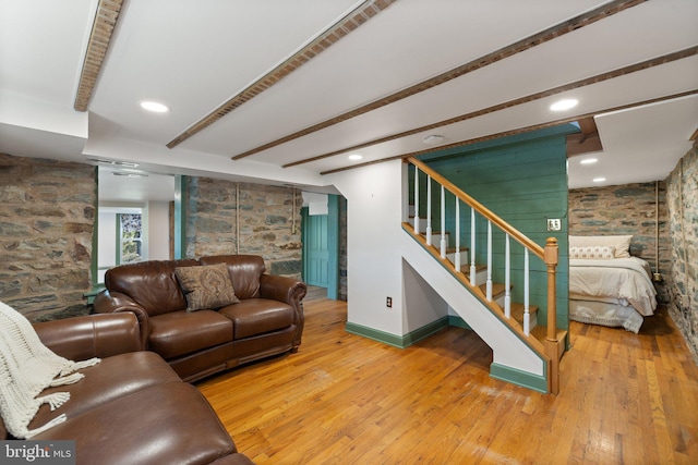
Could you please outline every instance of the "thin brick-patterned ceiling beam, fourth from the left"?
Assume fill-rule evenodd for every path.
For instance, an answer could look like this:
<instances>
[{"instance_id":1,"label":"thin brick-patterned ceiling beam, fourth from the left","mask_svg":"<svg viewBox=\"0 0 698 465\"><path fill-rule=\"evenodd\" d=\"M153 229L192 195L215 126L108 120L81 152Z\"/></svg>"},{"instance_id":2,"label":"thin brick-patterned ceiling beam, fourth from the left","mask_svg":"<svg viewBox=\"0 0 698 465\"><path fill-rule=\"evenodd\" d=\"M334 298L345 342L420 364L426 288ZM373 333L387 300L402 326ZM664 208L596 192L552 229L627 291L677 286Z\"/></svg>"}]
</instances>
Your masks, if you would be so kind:
<instances>
[{"instance_id":1,"label":"thin brick-patterned ceiling beam, fourth from the left","mask_svg":"<svg viewBox=\"0 0 698 465\"><path fill-rule=\"evenodd\" d=\"M528 96L525 96L525 97L520 97L520 98L517 98L517 99L514 99L514 100L505 101L505 102L495 105L493 107L488 107L488 108L484 108L484 109L481 109L481 110L477 110L477 111L473 111L473 112L470 112L470 113L460 114L458 117L449 118L447 120L438 121L436 123L428 124L428 125L420 126L420 127L414 127L412 130L404 131L404 132L397 133L397 134L390 134L390 135L385 136L385 137L381 137L381 138L377 138L377 139L369 140L369 142L365 142L365 143L362 143L362 144L358 144L358 145L354 145L354 146L351 146L351 147L345 147L345 148L342 148L340 150L330 151L328 154L323 154L323 155L318 155L318 156L315 156L315 157L306 158L306 159L303 159L303 160L298 160L298 161L294 161L294 162L291 162L291 163L284 164L284 168L290 168L290 167L294 167L294 166L298 166L298 164L310 163L310 162L313 162L313 161L322 160L324 158L334 157L334 156L337 156L339 154L345 154L345 152L349 152L349 151L356 151L356 150L359 150L359 149L362 149L362 148L365 148L365 147L370 147L372 145L377 145L377 144L383 144L383 143L390 142L390 140L396 140L398 138L402 138L402 137L407 137L407 136L410 136L410 135L419 134L419 133L422 133L422 132L425 132L425 131L432 131L432 130L435 130L437 127L443 127L443 126L446 126L446 125L449 125L449 124L455 124L455 123L459 123L459 122L462 122L462 121L466 121L466 120L471 120L473 118L482 117L482 115L485 115L485 114L489 114L489 113L494 113L496 111L505 110L507 108L513 108L513 107L516 107L518 105L528 103L528 102L531 102L531 101L534 101L534 100L539 100L541 98L551 97L551 96L556 95L556 94L566 93L566 91L574 90L574 89L577 89L577 88L580 88L580 87L585 87L585 86L589 86L589 85L592 85L592 84L598 84L598 83L601 83L601 82L604 82L604 81L609 81L609 79L612 79L612 78L625 76L625 75L628 75L628 74L631 74L631 73L636 73L638 71L643 71L643 70L648 70L648 69L653 68L653 66L659 66L659 65L662 65L662 64L671 63L671 62L676 61L676 60L683 60L685 58L689 58L689 57L693 57L695 54L698 54L698 46L694 46L694 47L690 47L690 48L685 49L685 50L679 50L679 51L676 51L676 52L673 52L673 53L669 53L669 54L665 54L663 57L657 57L657 58L653 58L653 59L650 59L650 60L647 60L647 61L643 61L643 62L640 62L640 63L635 63L635 64L631 64L629 66L625 66L625 68L621 68L621 69L617 69L617 70L613 70L613 71L610 71L607 73L602 73L602 74L599 74L599 75L595 75L595 76L587 77L587 78L577 81L575 83L565 84L565 85L562 85L562 86L558 86L558 87L553 87L551 89L546 89L546 90L543 90L543 91L540 91L540 93L531 94L531 95L528 95ZM586 125L586 126L588 126L588 131L595 131L595 123L593 122L593 118L590 118L590 121L591 122L587 123L587 125ZM582 129L582 133L583 133L583 131L585 131L585 129Z\"/></svg>"}]
</instances>

